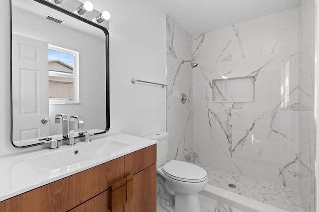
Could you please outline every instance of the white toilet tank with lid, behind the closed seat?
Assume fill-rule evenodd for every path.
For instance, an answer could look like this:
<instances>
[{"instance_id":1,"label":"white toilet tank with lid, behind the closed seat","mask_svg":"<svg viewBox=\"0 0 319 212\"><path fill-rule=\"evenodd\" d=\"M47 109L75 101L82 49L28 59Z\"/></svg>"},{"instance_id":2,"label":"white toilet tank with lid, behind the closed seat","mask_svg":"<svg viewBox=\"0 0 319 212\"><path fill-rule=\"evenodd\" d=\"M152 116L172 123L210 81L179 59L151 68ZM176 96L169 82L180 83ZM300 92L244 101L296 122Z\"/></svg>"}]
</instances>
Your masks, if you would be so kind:
<instances>
[{"instance_id":1,"label":"white toilet tank with lid, behind the closed seat","mask_svg":"<svg viewBox=\"0 0 319 212\"><path fill-rule=\"evenodd\" d=\"M167 162L168 159L168 133L160 131L149 134L144 138L159 141L156 146L156 167L160 167Z\"/></svg>"}]
</instances>

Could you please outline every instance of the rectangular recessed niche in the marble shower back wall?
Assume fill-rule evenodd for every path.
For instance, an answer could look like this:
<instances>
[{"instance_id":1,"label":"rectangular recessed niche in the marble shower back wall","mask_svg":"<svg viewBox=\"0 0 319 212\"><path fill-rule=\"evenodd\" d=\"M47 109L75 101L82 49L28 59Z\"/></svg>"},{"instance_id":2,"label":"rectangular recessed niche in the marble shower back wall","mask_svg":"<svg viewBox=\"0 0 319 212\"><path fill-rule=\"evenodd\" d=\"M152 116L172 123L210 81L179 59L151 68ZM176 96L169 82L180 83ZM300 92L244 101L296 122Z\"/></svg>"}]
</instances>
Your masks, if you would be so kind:
<instances>
[{"instance_id":1,"label":"rectangular recessed niche in the marble shower back wall","mask_svg":"<svg viewBox=\"0 0 319 212\"><path fill-rule=\"evenodd\" d=\"M212 102L255 102L255 76L212 80Z\"/></svg>"}]
</instances>

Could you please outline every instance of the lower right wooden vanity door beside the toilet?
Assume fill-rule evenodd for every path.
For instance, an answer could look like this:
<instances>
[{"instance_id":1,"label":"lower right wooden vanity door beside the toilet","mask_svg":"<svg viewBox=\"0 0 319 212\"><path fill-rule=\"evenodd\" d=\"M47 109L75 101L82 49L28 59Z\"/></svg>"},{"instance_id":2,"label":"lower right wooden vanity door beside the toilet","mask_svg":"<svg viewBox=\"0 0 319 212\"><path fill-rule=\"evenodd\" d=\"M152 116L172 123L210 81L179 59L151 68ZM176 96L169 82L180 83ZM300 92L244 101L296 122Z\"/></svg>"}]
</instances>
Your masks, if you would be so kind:
<instances>
[{"instance_id":1,"label":"lower right wooden vanity door beside the toilet","mask_svg":"<svg viewBox=\"0 0 319 212\"><path fill-rule=\"evenodd\" d=\"M125 212L156 212L156 164L134 177L133 199L124 205Z\"/></svg>"}]
</instances>

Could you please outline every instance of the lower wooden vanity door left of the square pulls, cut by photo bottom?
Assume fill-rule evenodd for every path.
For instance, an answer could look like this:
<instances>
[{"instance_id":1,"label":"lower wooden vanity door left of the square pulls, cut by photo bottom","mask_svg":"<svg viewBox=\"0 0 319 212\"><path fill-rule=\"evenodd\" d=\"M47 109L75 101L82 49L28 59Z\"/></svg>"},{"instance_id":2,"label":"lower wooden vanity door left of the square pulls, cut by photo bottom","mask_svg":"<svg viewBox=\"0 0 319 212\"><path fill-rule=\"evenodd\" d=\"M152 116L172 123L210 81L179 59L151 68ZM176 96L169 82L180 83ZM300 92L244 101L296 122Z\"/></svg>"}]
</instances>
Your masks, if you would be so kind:
<instances>
[{"instance_id":1,"label":"lower wooden vanity door left of the square pulls, cut by photo bottom","mask_svg":"<svg viewBox=\"0 0 319 212\"><path fill-rule=\"evenodd\" d=\"M69 212L111 212L109 210L110 193L110 190L107 190ZM114 212L123 212L123 208Z\"/></svg>"}]
</instances>

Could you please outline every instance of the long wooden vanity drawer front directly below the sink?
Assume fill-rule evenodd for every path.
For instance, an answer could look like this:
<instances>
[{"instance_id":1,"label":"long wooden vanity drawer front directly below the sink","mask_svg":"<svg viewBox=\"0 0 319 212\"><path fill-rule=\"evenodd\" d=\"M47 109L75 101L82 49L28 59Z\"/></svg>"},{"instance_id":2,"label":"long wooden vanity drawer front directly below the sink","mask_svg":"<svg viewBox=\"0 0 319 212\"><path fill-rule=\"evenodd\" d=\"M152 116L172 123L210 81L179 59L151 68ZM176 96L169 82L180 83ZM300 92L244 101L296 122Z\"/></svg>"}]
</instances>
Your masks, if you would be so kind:
<instances>
[{"instance_id":1,"label":"long wooden vanity drawer front directly below the sink","mask_svg":"<svg viewBox=\"0 0 319 212\"><path fill-rule=\"evenodd\" d=\"M65 212L124 177L124 157L0 202L1 212Z\"/></svg>"}]
</instances>

